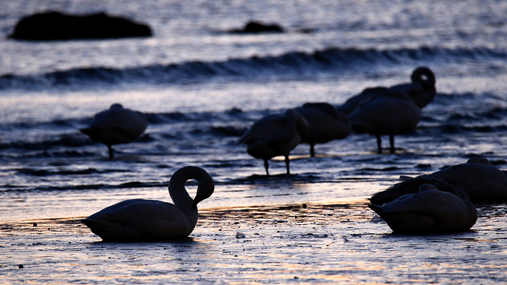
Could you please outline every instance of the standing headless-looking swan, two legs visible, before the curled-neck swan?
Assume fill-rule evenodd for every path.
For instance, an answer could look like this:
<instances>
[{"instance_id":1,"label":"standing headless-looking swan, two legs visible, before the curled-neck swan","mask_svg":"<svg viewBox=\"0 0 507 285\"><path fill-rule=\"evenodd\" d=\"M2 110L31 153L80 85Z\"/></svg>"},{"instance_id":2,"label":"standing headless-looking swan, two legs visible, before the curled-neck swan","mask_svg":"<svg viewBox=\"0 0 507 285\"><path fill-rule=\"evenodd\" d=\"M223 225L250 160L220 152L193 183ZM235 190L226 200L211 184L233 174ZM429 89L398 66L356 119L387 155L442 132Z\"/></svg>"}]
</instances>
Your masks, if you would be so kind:
<instances>
[{"instance_id":1,"label":"standing headless-looking swan, two legs visible, before the curled-neck swan","mask_svg":"<svg viewBox=\"0 0 507 285\"><path fill-rule=\"evenodd\" d=\"M390 152L394 153L394 135L415 129L421 116L421 110L407 94L388 90L359 106L347 117L354 132L377 137L378 153L381 154L381 135L389 136Z\"/></svg>"}]
</instances>

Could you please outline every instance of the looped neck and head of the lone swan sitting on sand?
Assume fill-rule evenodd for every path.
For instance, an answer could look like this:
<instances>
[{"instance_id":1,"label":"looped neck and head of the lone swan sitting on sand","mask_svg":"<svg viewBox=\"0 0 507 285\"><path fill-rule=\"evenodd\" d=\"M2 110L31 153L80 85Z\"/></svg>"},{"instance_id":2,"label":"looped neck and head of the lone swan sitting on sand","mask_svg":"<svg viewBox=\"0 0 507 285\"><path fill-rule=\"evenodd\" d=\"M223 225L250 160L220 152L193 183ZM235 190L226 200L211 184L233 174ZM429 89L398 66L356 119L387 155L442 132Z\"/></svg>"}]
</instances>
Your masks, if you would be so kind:
<instances>
[{"instance_id":1,"label":"looped neck and head of the lone swan sitting on sand","mask_svg":"<svg viewBox=\"0 0 507 285\"><path fill-rule=\"evenodd\" d=\"M185 183L191 179L199 183L195 200L185 189ZM197 203L211 196L213 190L214 184L211 176L204 169L196 166L185 166L176 170L169 181L169 195L174 205L181 209L196 210Z\"/></svg>"}]
</instances>

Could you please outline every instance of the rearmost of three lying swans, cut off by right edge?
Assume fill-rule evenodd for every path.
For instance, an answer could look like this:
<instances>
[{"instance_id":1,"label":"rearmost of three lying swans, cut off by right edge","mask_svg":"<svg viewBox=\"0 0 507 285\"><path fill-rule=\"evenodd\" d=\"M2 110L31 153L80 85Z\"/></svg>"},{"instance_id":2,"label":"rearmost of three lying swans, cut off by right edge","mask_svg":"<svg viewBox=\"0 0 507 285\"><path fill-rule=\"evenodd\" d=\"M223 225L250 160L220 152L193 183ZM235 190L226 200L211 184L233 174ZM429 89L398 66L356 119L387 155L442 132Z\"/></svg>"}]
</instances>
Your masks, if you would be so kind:
<instances>
[{"instance_id":1,"label":"rearmost of three lying swans, cut off by right edge","mask_svg":"<svg viewBox=\"0 0 507 285\"><path fill-rule=\"evenodd\" d=\"M505 173L485 158L470 158L466 163L444 168L433 175L463 190L474 203L507 201Z\"/></svg>"}]
</instances>

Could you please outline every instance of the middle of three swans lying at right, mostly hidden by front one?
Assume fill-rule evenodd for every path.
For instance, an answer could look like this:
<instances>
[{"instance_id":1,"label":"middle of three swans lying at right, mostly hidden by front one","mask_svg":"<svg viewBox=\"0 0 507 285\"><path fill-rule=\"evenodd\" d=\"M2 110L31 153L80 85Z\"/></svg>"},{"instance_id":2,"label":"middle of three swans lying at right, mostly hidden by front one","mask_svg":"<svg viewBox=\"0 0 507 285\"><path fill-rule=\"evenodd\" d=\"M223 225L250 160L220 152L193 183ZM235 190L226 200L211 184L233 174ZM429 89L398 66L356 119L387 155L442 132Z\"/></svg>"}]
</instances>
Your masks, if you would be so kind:
<instances>
[{"instance_id":1,"label":"middle of three swans lying at right, mostly hidden by front one","mask_svg":"<svg viewBox=\"0 0 507 285\"><path fill-rule=\"evenodd\" d=\"M442 180L440 177L436 175L419 175L417 177L410 176L400 176L402 182L396 183L393 186L387 188L384 191L380 191L375 193L369 200L374 205L382 205L384 203L389 203L397 198L405 194L413 194L419 192L419 187L423 184L430 184L437 187L442 192L452 193L459 198L468 199L466 193L461 191L460 189L454 188L452 185Z\"/></svg>"}]
</instances>

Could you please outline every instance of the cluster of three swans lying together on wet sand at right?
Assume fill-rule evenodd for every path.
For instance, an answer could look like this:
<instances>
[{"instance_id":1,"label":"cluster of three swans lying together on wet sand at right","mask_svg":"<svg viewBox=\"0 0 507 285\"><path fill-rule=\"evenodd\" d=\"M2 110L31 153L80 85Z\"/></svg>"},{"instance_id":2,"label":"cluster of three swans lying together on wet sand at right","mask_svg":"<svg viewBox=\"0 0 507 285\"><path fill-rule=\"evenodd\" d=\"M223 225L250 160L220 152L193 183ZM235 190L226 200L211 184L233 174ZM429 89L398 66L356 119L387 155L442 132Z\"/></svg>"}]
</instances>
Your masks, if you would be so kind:
<instances>
[{"instance_id":1,"label":"cluster of three swans lying together on wet sand at right","mask_svg":"<svg viewBox=\"0 0 507 285\"><path fill-rule=\"evenodd\" d=\"M403 182L370 198L368 205L394 231L463 231L477 221L474 203L507 201L507 172L485 158L446 167Z\"/></svg>"}]
</instances>

